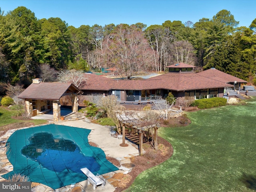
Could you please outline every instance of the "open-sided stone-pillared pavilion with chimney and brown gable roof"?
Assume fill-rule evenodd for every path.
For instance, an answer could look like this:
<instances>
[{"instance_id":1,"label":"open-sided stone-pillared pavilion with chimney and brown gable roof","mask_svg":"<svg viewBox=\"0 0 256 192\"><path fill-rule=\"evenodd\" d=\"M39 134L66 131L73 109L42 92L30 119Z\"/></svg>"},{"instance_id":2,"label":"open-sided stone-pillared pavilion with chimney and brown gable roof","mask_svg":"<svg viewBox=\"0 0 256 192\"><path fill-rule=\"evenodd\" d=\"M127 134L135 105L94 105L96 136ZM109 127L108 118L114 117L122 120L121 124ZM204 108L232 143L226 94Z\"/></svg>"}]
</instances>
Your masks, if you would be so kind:
<instances>
[{"instance_id":1,"label":"open-sided stone-pillared pavilion with chimney and brown gable roof","mask_svg":"<svg viewBox=\"0 0 256 192\"><path fill-rule=\"evenodd\" d=\"M18 98L25 100L25 113L28 117L52 118L53 116L53 120L57 122L62 116L60 98L70 95L72 112L75 113L78 112L78 94L80 93L82 91L71 83L46 83L42 82L42 79L34 79Z\"/></svg>"}]
</instances>

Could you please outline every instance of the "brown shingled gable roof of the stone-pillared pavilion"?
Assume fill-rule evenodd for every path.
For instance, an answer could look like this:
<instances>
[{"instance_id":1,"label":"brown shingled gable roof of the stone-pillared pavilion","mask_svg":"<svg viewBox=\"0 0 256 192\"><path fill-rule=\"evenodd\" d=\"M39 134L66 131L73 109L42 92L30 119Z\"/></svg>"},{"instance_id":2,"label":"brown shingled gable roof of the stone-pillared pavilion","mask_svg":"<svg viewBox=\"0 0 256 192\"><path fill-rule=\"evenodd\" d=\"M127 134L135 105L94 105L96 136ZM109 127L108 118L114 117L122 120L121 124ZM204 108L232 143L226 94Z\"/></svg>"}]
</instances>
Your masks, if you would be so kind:
<instances>
[{"instance_id":1,"label":"brown shingled gable roof of the stone-pillared pavilion","mask_svg":"<svg viewBox=\"0 0 256 192\"><path fill-rule=\"evenodd\" d=\"M37 100L59 100L63 94L82 91L72 83L40 82L30 84L18 98Z\"/></svg>"}]
</instances>

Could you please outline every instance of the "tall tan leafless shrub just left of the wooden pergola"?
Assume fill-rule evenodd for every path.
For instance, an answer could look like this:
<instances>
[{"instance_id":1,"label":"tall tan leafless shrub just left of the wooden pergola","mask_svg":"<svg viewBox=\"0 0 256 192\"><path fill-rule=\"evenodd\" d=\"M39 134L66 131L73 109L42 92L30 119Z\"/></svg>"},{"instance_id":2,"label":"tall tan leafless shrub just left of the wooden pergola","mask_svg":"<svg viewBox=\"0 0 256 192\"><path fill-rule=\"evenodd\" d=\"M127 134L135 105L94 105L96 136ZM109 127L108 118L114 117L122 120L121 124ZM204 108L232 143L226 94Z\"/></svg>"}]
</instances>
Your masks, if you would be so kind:
<instances>
[{"instance_id":1,"label":"tall tan leafless shrub just left of the wooden pergola","mask_svg":"<svg viewBox=\"0 0 256 192\"><path fill-rule=\"evenodd\" d=\"M119 120L116 117L116 113L124 111L124 106L121 106L117 102L117 97L114 95L102 97L100 107L106 111L108 118L111 118L118 128L118 133L121 133L121 127Z\"/></svg>"}]
</instances>

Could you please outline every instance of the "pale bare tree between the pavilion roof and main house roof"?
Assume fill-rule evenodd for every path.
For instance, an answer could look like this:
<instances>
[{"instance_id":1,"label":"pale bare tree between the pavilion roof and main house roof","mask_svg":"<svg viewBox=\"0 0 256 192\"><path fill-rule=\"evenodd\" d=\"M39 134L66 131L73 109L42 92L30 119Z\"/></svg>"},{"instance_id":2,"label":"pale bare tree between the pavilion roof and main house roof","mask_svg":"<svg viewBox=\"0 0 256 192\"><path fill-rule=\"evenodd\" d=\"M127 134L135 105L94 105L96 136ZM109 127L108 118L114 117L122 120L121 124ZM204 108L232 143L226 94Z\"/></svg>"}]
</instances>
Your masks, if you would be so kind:
<instances>
[{"instance_id":1,"label":"pale bare tree between the pavilion roof and main house roof","mask_svg":"<svg viewBox=\"0 0 256 192\"><path fill-rule=\"evenodd\" d=\"M86 83L88 78L84 76L81 70L62 70L58 73L58 80L62 83L72 82L74 86L79 87Z\"/></svg>"}]
</instances>

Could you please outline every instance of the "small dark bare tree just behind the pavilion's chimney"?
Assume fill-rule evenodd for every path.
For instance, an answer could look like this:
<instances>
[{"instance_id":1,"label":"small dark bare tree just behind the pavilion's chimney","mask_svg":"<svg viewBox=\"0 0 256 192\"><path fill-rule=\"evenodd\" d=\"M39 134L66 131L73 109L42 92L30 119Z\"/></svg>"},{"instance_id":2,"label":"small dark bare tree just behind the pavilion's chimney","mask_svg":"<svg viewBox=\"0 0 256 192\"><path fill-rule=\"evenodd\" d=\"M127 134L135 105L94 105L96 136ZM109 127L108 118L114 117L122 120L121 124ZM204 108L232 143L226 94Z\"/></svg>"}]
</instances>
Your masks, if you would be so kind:
<instances>
[{"instance_id":1,"label":"small dark bare tree just behind the pavilion's chimney","mask_svg":"<svg viewBox=\"0 0 256 192\"><path fill-rule=\"evenodd\" d=\"M51 68L49 64L41 64L39 66L40 78L42 78L43 82L53 82L57 78L58 72Z\"/></svg>"}]
</instances>

